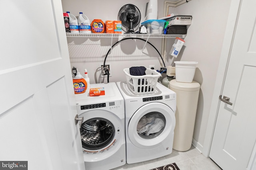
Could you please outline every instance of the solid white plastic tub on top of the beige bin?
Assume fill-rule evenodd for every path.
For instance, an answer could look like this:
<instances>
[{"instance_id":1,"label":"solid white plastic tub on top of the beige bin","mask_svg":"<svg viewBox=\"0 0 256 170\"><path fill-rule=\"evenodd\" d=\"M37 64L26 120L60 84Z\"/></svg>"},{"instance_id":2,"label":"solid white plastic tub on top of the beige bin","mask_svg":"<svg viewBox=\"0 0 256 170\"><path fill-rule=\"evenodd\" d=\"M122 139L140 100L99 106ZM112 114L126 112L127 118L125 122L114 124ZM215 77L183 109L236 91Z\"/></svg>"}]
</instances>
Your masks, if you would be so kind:
<instances>
[{"instance_id":1,"label":"solid white plastic tub on top of the beige bin","mask_svg":"<svg viewBox=\"0 0 256 170\"><path fill-rule=\"evenodd\" d=\"M196 61L174 61L177 82L191 83L196 71Z\"/></svg>"}]
</instances>

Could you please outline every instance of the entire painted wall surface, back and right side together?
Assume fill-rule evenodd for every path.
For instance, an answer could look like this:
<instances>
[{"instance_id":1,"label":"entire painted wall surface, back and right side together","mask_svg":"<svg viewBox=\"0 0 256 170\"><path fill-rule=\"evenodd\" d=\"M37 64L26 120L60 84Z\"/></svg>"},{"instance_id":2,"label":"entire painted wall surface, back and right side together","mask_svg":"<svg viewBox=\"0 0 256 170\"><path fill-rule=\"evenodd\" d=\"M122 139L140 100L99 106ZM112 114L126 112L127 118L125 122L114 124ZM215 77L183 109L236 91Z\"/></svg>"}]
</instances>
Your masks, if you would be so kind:
<instances>
[{"instance_id":1,"label":"entire painted wall surface, back and right side together","mask_svg":"<svg viewBox=\"0 0 256 170\"><path fill-rule=\"evenodd\" d=\"M148 0L130 0L127 2L108 0L101 1L100 5L93 1L85 0L62 0L64 12L70 11L75 16L84 12L92 21L93 19L116 20L119 9L124 4L136 5L145 17L145 7ZM194 129L193 144L202 150L210 104L216 80L222 38L224 37L226 21L231 0L191 0L176 8L170 8L170 13L180 15L192 15L192 24L188 26L188 33L185 37L185 45L177 58L170 56L170 48L174 39L167 39L165 64L172 65L174 61L198 61L194 80L201 84L198 100L198 109ZM114 7L115 5L115 7ZM164 16L164 0L158 0L158 17ZM94 83L94 72L103 64L106 53L118 38L75 38L68 37L68 48L70 53L71 67L75 66L83 72L88 69L91 83ZM161 53L162 39L151 38L148 40L156 46ZM110 63L112 77L110 82L125 81L123 68L130 66L155 65L156 69L161 67L158 53L150 46L142 51L144 41L126 40L116 45L111 55L108 55L106 64ZM97 74L98 76L98 74ZM106 80L105 80L106 82Z\"/></svg>"}]
</instances>

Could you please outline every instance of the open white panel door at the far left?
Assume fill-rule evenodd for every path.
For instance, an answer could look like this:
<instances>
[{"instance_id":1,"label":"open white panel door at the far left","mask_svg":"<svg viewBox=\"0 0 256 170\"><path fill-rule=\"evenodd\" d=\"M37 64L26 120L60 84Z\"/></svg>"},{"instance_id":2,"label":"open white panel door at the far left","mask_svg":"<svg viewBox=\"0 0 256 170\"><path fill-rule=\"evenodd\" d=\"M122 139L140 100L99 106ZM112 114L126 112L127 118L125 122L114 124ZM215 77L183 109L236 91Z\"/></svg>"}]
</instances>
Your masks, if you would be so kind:
<instances>
[{"instance_id":1,"label":"open white panel door at the far left","mask_svg":"<svg viewBox=\"0 0 256 170\"><path fill-rule=\"evenodd\" d=\"M0 161L84 169L61 1L0 4Z\"/></svg>"}]
</instances>

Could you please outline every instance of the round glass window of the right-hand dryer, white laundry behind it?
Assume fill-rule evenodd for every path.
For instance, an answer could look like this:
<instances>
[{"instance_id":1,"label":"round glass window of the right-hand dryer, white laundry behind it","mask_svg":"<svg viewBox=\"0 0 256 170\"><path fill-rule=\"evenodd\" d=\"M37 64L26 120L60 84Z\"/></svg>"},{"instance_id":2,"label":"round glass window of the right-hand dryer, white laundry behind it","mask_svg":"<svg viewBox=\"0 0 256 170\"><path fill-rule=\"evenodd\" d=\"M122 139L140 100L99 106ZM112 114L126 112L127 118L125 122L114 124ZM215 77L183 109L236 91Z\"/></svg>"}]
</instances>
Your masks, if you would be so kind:
<instances>
[{"instance_id":1,"label":"round glass window of the right-hand dryer, white laundry behind it","mask_svg":"<svg viewBox=\"0 0 256 170\"><path fill-rule=\"evenodd\" d=\"M137 133L144 139L152 139L162 133L166 119L160 112L154 111L144 115L138 122Z\"/></svg>"}]
</instances>

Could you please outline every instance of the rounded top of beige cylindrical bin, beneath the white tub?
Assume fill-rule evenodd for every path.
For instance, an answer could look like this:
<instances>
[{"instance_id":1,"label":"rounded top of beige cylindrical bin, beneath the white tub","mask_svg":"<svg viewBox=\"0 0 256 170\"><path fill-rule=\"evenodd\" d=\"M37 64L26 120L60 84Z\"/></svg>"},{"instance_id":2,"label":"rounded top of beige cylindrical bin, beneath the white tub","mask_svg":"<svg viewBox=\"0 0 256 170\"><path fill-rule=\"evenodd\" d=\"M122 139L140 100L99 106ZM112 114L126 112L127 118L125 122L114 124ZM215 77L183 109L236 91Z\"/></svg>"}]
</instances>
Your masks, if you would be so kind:
<instances>
[{"instance_id":1,"label":"rounded top of beige cylindrical bin, beneath the white tub","mask_svg":"<svg viewBox=\"0 0 256 170\"><path fill-rule=\"evenodd\" d=\"M199 90L200 84L194 80L191 83L182 83L176 82L176 79L173 79L169 82L169 88L192 92Z\"/></svg>"}]
</instances>

